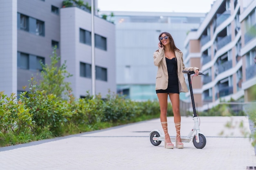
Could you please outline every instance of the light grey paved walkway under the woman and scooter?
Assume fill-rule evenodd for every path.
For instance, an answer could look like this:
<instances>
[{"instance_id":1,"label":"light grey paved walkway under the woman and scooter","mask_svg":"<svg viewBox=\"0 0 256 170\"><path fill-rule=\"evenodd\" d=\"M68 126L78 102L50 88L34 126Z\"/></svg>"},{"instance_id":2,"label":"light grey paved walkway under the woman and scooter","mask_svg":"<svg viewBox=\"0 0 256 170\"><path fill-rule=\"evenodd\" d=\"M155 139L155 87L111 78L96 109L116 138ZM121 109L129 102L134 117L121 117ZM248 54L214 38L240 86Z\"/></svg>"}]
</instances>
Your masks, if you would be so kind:
<instances>
[{"instance_id":1,"label":"light grey paved walkway under the woman and scooter","mask_svg":"<svg viewBox=\"0 0 256 170\"><path fill-rule=\"evenodd\" d=\"M192 141L184 149L153 146L149 132L162 132L159 119L4 147L0 170L246 170L256 166L256 156L252 140L238 128L241 121L250 132L247 117L200 117L203 149ZM226 128L227 122L234 127ZM173 117L168 123L175 136ZM192 117L182 117L182 136L192 127Z\"/></svg>"}]
</instances>

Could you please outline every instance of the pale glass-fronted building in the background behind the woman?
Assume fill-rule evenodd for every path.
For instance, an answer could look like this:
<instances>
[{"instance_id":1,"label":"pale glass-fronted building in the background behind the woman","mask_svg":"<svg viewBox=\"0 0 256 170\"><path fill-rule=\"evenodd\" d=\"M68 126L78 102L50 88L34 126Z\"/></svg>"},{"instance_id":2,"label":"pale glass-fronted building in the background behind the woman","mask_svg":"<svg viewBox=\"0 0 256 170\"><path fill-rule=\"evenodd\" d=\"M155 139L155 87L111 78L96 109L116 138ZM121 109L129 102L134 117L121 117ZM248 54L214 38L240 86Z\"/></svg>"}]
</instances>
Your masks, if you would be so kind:
<instances>
[{"instance_id":1,"label":"pale glass-fronted building in the background behind the woman","mask_svg":"<svg viewBox=\"0 0 256 170\"><path fill-rule=\"evenodd\" d=\"M110 16L110 11L101 11ZM191 29L198 29L205 13L113 11L116 29L117 91L132 100L157 99L153 53L161 32L171 33L183 53L184 40ZM189 66L189 65L186 65ZM196 63L194 66L200 66ZM184 98L184 93L180 98Z\"/></svg>"}]
</instances>

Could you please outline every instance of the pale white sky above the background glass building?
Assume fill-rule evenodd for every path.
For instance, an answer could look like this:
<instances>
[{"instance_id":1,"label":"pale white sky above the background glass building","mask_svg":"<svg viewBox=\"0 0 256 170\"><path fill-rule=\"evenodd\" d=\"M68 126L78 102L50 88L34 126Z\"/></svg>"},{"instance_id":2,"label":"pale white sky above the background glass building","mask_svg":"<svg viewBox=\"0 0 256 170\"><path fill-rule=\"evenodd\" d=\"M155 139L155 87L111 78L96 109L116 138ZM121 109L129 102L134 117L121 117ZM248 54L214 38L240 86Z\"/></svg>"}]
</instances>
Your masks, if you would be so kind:
<instances>
[{"instance_id":1,"label":"pale white sky above the background glass building","mask_svg":"<svg viewBox=\"0 0 256 170\"><path fill-rule=\"evenodd\" d=\"M100 11L207 13L215 0L98 0Z\"/></svg>"}]
</instances>

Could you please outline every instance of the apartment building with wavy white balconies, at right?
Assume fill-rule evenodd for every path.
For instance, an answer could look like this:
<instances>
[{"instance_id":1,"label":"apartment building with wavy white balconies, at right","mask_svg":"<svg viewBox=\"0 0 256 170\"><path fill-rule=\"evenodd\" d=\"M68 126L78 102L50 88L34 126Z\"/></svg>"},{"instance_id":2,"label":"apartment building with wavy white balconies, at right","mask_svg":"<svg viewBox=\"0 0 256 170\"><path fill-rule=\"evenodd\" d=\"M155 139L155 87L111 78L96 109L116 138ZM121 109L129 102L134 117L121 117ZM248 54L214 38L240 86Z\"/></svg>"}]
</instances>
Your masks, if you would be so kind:
<instances>
[{"instance_id":1,"label":"apartment building with wavy white balconies, at right","mask_svg":"<svg viewBox=\"0 0 256 170\"><path fill-rule=\"evenodd\" d=\"M205 74L194 85L201 110L231 99L255 100L250 95L256 85L255 18L255 0L216 0L198 30L186 37L184 62L200 62Z\"/></svg>"}]
</instances>

